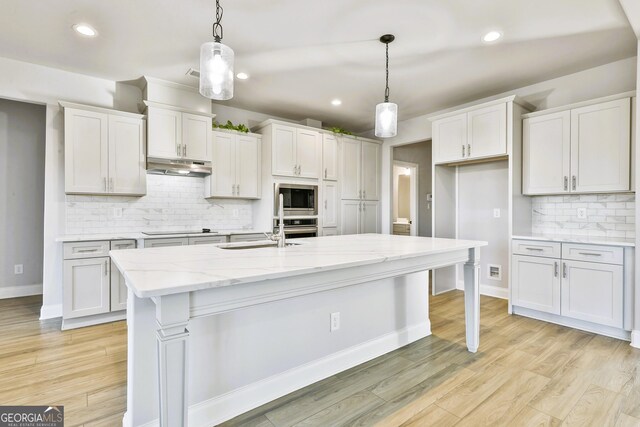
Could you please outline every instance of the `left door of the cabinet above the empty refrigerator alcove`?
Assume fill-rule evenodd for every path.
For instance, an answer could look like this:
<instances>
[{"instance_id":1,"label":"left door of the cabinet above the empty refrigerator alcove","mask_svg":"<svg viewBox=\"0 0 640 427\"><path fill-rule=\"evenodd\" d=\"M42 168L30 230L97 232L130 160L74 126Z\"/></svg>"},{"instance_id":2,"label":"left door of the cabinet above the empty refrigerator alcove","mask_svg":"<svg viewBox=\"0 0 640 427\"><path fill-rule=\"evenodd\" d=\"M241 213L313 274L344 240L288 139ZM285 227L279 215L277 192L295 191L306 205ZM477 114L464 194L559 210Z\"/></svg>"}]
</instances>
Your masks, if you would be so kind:
<instances>
[{"instance_id":1,"label":"left door of the cabinet above the empty refrigerator alcove","mask_svg":"<svg viewBox=\"0 0 640 427\"><path fill-rule=\"evenodd\" d=\"M466 157L466 113L434 121L432 132L434 163L459 161Z\"/></svg>"}]
</instances>

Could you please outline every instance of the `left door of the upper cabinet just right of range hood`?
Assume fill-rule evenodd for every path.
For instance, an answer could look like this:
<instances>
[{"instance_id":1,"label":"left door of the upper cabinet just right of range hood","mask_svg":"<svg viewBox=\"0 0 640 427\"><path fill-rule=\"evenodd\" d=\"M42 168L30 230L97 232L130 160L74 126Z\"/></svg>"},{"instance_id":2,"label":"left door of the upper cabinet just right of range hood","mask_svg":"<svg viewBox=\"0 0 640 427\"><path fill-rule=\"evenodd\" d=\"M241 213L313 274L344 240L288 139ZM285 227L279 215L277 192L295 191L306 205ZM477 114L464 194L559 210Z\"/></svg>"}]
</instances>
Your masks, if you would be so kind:
<instances>
[{"instance_id":1,"label":"left door of the upper cabinet just right of range hood","mask_svg":"<svg viewBox=\"0 0 640 427\"><path fill-rule=\"evenodd\" d=\"M213 132L213 170L211 196L236 195L236 137L230 133Z\"/></svg>"}]
</instances>

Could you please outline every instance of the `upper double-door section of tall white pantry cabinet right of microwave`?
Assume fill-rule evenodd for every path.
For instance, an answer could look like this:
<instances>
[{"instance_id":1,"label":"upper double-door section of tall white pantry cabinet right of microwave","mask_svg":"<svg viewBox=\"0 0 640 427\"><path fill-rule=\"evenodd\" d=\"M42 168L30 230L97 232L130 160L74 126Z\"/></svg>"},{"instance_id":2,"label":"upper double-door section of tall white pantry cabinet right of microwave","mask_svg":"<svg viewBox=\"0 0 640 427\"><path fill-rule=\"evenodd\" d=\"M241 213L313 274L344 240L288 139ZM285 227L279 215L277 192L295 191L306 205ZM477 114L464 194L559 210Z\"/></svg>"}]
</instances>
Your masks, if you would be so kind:
<instances>
[{"instance_id":1,"label":"upper double-door section of tall white pantry cabinet right of microwave","mask_svg":"<svg viewBox=\"0 0 640 427\"><path fill-rule=\"evenodd\" d=\"M342 198L380 199L380 144L358 139L342 141Z\"/></svg>"}]
</instances>

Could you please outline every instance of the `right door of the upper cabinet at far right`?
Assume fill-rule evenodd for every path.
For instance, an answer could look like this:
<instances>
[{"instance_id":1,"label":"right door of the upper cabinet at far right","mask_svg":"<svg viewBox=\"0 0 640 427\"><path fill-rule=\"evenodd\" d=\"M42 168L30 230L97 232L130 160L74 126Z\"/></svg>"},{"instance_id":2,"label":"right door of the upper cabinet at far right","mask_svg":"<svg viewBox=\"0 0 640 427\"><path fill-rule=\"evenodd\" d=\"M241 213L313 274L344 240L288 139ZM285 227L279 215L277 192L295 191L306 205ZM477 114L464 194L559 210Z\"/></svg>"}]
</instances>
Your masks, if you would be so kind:
<instances>
[{"instance_id":1,"label":"right door of the upper cabinet at far right","mask_svg":"<svg viewBox=\"0 0 640 427\"><path fill-rule=\"evenodd\" d=\"M572 191L629 191L630 108L625 98L571 110Z\"/></svg>"}]
</instances>

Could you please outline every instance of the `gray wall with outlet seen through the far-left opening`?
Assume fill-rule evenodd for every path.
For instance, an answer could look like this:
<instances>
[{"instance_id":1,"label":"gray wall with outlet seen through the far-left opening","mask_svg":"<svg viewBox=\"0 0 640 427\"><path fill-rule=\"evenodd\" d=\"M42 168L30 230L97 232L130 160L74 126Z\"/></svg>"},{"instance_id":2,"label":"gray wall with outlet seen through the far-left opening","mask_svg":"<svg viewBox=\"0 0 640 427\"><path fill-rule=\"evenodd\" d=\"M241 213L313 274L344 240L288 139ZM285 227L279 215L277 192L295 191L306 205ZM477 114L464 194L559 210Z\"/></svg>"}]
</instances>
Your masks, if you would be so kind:
<instances>
[{"instance_id":1,"label":"gray wall with outlet seen through the far-left opening","mask_svg":"<svg viewBox=\"0 0 640 427\"><path fill-rule=\"evenodd\" d=\"M42 284L45 114L0 99L0 288Z\"/></svg>"}]
</instances>

